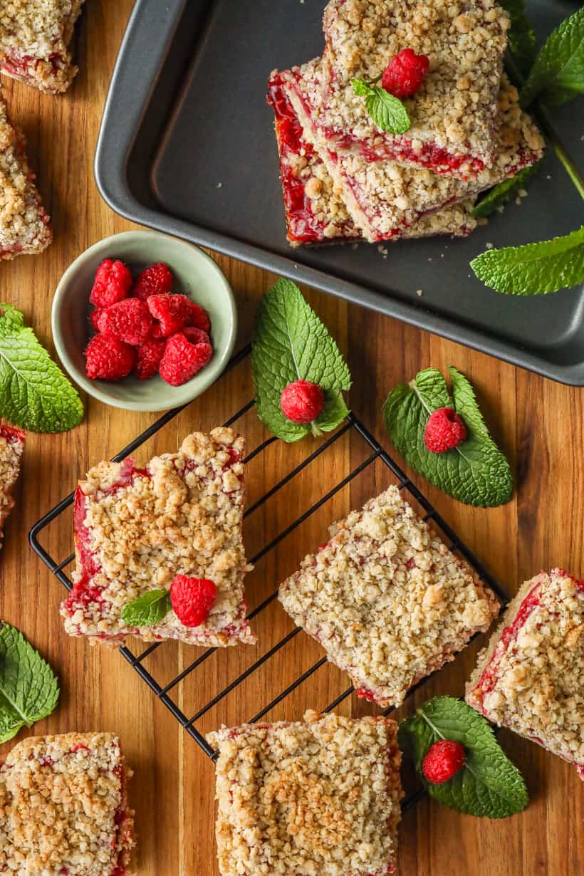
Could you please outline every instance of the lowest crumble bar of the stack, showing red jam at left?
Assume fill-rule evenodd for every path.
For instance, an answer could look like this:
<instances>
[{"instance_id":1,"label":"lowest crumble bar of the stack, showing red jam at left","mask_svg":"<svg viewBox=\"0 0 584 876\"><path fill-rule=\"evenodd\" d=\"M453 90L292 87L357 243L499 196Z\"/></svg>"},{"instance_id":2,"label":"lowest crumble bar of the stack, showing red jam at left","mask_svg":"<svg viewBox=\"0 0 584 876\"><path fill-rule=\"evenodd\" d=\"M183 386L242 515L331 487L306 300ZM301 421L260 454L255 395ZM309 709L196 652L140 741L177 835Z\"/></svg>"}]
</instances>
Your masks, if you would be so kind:
<instances>
[{"instance_id":1,"label":"lowest crumble bar of the stack, showing red jam at left","mask_svg":"<svg viewBox=\"0 0 584 876\"><path fill-rule=\"evenodd\" d=\"M287 72L287 71L286 71ZM283 74L269 84L268 102L276 116L275 129L284 194L286 237L292 246L362 240L345 201L320 155L304 138L299 119L284 89ZM466 237L476 227L474 201L463 201L424 216L388 239L449 234Z\"/></svg>"}]
</instances>

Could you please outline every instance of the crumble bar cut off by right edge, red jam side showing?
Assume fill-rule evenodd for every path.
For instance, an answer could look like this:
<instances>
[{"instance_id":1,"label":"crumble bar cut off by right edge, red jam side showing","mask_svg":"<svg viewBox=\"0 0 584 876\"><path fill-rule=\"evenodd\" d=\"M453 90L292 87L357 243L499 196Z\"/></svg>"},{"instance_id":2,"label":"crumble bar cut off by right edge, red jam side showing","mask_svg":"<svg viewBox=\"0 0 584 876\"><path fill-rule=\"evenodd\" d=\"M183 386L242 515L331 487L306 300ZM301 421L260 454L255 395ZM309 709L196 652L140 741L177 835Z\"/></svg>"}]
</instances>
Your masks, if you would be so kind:
<instances>
[{"instance_id":1,"label":"crumble bar cut off by right edge, red jam side showing","mask_svg":"<svg viewBox=\"0 0 584 876\"><path fill-rule=\"evenodd\" d=\"M479 654L467 703L573 763L584 780L584 581L526 581Z\"/></svg>"}]
</instances>

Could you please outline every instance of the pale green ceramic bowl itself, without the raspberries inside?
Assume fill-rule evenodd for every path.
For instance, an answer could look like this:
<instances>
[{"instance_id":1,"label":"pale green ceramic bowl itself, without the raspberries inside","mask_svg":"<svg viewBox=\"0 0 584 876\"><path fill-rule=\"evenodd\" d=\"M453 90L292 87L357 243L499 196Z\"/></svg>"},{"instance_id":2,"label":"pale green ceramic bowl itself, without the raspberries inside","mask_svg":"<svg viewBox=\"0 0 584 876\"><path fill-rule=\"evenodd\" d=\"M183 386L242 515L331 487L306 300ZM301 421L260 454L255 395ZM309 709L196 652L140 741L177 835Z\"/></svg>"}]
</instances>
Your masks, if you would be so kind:
<instances>
[{"instance_id":1,"label":"pale green ceramic bowl itself, without the raspberries inside","mask_svg":"<svg viewBox=\"0 0 584 876\"><path fill-rule=\"evenodd\" d=\"M83 350L94 334L89 293L103 258L120 258L134 276L147 265L165 262L175 278L172 291L188 295L208 311L214 355L186 384L170 386L158 376L138 380L130 375L116 383L88 378ZM75 258L57 286L52 323L60 360L85 392L127 411L164 411L196 399L222 373L236 343L237 313L229 283L212 258L177 237L141 230L106 237Z\"/></svg>"}]
</instances>

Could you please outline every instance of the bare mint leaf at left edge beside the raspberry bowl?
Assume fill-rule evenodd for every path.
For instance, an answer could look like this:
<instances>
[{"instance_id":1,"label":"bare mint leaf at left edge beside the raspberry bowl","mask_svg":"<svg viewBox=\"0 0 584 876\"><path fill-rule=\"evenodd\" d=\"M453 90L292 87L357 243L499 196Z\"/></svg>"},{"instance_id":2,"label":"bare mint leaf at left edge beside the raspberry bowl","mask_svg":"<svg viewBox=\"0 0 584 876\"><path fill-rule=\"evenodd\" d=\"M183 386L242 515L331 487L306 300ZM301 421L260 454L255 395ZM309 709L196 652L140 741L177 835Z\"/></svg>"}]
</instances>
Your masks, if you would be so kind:
<instances>
[{"instance_id":1,"label":"bare mint leaf at left edge beside the raspberry bowl","mask_svg":"<svg viewBox=\"0 0 584 876\"><path fill-rule=\"evenodd\" d=\"M78 392L10 304L0 304L0 414L32 432L63 432L83 419Z\"/></svg>"}]
</instances>

